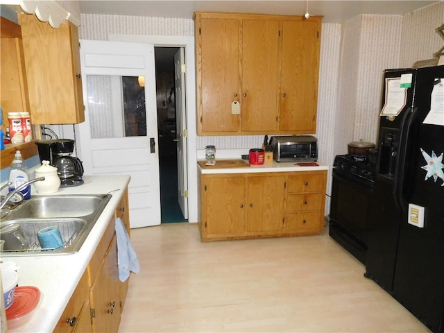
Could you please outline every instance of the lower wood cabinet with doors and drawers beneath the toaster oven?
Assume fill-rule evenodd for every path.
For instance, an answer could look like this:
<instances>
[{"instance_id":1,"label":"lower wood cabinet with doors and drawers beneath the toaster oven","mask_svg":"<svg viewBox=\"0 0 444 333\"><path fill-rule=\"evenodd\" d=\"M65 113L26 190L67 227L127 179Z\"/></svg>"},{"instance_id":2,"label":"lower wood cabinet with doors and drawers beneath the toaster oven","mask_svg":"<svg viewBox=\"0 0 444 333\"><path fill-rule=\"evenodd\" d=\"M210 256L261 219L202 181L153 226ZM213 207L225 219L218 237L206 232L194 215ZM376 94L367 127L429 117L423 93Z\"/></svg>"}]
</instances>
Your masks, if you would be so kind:
<instances>
[{"instance_id":1,"label":"lower wood cabinet with doors and drawers beneath the toaster oven","mask_svg":"<svg viewBox=\"0 0 444 333\"><path fill-rule=\"evenodd\" d=\"M327 171L200 173L201 239L318 234L326 182Z\"/></svg>"}]
</instances>

